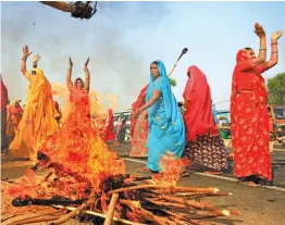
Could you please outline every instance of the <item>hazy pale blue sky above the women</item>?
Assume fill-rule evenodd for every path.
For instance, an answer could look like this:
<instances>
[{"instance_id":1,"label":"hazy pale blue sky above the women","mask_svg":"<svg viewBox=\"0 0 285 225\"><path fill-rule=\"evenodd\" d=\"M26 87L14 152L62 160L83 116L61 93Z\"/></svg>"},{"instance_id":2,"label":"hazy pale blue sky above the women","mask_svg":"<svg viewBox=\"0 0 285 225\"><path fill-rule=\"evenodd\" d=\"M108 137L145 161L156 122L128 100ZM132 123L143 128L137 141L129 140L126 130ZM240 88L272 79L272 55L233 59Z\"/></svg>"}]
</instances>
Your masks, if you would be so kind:
<instances>
[{"instance_id":1,"label":"hazy pale blue sky above the women","mask_svg":"<svg viewBox=\"0 0 285 225\"><path fill-rule=\"evenodd\" d=\"M79 20L40 2L1 2L1 74L10 100L26 99L28 84L20 71L25 45L40 54L38 65L50 83L65 85L69 57L73 78L84 78L83 66L90 58L90 87L103 98L114 95L116 111L129 109L149 82L150 62L161 60L170 72L188 48L172 75L177 101L183 99L188 66L197 65L216 109L228 109L236 53L244 47L259 48L255 23L267 33L268 59L271 34L285 32L285 2L99 1L97 8L90 20ZM265 79L285 72L284 36L278 40L280 63L263 74Z\"/></svg>"}]
</instances>

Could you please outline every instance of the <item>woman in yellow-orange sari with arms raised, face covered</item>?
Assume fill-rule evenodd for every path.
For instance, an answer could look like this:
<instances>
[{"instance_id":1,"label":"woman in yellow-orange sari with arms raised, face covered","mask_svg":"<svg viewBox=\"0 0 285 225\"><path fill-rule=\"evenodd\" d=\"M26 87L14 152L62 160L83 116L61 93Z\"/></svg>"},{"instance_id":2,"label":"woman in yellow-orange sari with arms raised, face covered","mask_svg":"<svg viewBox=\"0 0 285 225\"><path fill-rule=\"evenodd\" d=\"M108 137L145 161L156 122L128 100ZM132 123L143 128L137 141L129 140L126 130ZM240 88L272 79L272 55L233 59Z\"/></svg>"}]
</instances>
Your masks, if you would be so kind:
<instances>
[{"instance_id":1,"label":"woman in yellow-orange sari with arms raised, face covered","mask_svg":"<svg viewBox=\"0 0 285 225\"><path fill-rule=\"evenodd\" d=\"M44 72L37 67L39 55L33 59L33 71L26 70L26 60L32 54L28 47L23 49L21 72L29 82L28 93L23 117L13 142L10 146L11 154L15 158L36 159L36 152L47 136L52 135L58 123L54 118L54 108L51 85Z\"/></svg>"}]
</instances>

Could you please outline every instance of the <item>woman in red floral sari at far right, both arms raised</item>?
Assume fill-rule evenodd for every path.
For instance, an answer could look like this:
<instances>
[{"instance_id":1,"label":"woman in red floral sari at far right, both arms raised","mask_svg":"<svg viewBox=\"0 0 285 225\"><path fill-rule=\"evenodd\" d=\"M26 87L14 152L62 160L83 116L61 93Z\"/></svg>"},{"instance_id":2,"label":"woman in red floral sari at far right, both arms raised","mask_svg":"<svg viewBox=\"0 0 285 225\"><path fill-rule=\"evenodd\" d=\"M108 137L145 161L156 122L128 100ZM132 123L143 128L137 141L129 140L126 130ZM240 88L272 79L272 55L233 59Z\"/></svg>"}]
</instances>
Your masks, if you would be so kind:
<instances>
[{"instance_id":1,"label":"woman in red floral sari at far right, both arms raised","mask_svg":"<svg viewBox=\"0 0 285 225\"><path fill-rule=\"evenodd\" d=\"M259 55L251 48L238 51L232 82L231 120L235 176L249 186L272 185L268 92L261 73L278 62L277 39L282 32L271 37L271 59L267 59L265 33L255 25L260 38Z\"/></svg>"}]
</instances>

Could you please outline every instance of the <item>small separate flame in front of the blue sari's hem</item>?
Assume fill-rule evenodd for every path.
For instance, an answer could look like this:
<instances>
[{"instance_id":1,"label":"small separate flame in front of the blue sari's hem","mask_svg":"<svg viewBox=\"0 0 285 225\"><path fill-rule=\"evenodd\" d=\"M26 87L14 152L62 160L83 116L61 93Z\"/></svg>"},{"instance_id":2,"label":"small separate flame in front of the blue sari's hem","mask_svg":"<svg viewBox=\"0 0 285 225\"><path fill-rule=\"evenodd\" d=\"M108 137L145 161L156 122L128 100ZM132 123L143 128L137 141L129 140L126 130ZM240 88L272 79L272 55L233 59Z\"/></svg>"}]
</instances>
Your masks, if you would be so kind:
<instances>
[{"instance_id":1,"label":"small separate flame in front of the blue sari's hem","mask_svg":"<svg viewBox=\"0 0 285 225\"><path fill-rule=\"evenodd\" d=\"M152 176L152 182L160 185L176 186L182 168L190 164L186 158L177 159L171 151L160 159L160 167L162 172Z\"/></svg>"}]
</instances>

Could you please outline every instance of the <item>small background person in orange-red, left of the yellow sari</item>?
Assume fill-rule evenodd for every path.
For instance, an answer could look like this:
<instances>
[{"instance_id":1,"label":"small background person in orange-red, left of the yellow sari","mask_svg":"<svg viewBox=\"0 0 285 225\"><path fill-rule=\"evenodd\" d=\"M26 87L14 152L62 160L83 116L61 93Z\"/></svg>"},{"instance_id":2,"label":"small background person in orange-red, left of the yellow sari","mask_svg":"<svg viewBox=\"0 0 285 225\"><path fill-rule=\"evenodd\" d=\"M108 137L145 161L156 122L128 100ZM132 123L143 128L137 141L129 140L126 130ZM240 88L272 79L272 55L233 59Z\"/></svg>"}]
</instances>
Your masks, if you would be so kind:
<instances>
[{"instance_id":1,"label":"small background person in orange-red, left of the yellow sari","mask_svg":"<svg viewBox=\"0 0 285 225\"><path fill-rule=\"evenodd\" d=\"M7 118L7 136L9 140L12 141L15 137L15 133L20 121L23 115L23 109L18 101L14 101L12 105L8 107L8 118Z\"/></svg>"}]
</instances>

